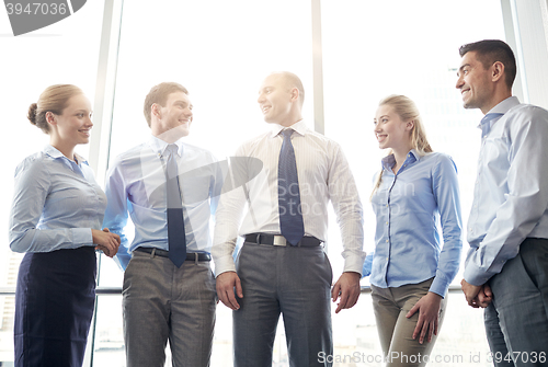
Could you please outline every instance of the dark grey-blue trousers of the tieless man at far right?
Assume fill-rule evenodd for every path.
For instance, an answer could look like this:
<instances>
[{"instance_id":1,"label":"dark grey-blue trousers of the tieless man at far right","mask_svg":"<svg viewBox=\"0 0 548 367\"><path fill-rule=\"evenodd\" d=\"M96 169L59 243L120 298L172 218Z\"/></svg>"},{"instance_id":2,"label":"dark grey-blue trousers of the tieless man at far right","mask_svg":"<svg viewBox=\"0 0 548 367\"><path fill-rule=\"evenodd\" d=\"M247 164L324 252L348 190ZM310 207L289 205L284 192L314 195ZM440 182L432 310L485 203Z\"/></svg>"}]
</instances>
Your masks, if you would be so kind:
<instances>
[{"instance_id":1,"label":"dark grey-blue trousers of the tieless man at far right","mask_svg":"<svg viewBox=\"0 0 548 367\"><path fill-rule=\"evenodd\" d=\"M548 366L548 240L526 239L489 284L484 321L494 365Z\"/></svg>"}]
</instances>

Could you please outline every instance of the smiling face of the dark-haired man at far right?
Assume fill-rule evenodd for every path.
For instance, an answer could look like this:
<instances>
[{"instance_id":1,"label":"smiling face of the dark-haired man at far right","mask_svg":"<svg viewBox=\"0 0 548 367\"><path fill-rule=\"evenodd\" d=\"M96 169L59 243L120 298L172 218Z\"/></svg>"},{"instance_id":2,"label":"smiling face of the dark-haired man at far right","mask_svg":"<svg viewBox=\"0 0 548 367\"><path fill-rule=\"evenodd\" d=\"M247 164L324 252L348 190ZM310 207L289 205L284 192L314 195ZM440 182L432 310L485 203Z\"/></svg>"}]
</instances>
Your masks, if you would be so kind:
<instances>
[{"instance_id":1,"label":"smiling face of the dark-haired man at far right","mask_svg":"<svg viewBox=\"0 0 548 367\"><path fill-rule=\"evenodd\" d=\"M480 108L486 114L496 105L492 73L492 67L486 69L476 57L476 51L463 56L455 87L460 90L465 108Z\"/></svg>"}]
</instances>

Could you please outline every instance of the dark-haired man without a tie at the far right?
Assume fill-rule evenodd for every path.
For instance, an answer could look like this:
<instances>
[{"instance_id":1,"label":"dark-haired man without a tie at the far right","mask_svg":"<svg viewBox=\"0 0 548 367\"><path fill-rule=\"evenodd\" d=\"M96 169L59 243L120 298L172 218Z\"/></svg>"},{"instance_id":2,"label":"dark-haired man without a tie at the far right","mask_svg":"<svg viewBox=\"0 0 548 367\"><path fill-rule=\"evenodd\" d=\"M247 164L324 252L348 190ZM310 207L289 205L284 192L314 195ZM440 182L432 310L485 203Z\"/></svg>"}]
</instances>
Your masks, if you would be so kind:
<instances>
[{"instance_id":1,"label":"dark-haired man without a tie at the far right","mask_svg":"<svg viewBox=\"0 0 548 367\"><path fill-rule=\"evenodd\" d=\"M463 291L486 308L495 366L545 366L548 354L548 111L512 96L502 41L460 47L456 88L480 108L481 150Z\"/></svg>"}]
</instances>

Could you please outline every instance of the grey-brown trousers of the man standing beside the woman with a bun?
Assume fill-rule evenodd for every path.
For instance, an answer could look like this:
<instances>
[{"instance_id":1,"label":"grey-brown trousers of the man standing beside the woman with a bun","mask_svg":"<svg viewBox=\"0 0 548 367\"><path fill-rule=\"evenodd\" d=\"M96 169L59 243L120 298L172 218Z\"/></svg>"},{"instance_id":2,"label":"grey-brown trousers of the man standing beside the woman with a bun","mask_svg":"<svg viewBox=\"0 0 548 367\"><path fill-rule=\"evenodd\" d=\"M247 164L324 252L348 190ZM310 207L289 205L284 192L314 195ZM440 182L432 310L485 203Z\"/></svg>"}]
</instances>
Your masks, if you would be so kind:
<instances>
[{"instance_id":1,"label":"grey-brown trousers of the man standing beside the woman with a bun","mask_svg":"<svg viewBox=\"0 0 548 367\"><path fill-rule=\"evenodd\" d=\"M217 293L209 262L134 252L124 274L124 339L128 367L209 366Z\"/></svg>"}]
</instances>

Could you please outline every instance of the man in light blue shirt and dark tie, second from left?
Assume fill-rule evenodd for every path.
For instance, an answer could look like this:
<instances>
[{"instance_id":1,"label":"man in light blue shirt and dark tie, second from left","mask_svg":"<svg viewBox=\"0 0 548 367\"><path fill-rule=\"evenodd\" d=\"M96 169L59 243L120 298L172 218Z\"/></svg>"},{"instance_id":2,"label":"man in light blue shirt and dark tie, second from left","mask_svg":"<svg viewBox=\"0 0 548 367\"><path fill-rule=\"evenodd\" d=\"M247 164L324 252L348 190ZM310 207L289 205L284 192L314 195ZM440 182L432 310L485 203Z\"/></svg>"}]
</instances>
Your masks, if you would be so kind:
<instances>
[{"instance_id":1,"label":"man in light blue shirt and dark tie, second from left","mask_svg":"<svg viewBox=\"0 0 548 367\"><path fill-rule=\"evenodd\" d=\"M208 151L183 142L193 119L187 94L178 83L150 90L144 112L152 136L117 157L107 175L104 223L122 238L128 367L163 366L168 340L174 366L209 366L217 301L209 219L222 175ZM130 244L123 232L128 215Z\"/></svg>"}]
</instances>

